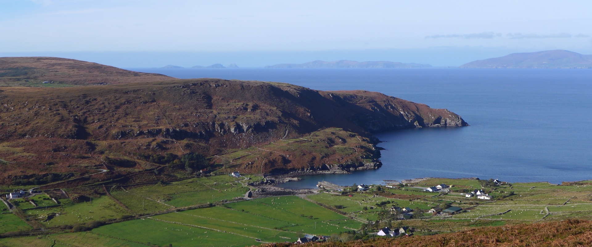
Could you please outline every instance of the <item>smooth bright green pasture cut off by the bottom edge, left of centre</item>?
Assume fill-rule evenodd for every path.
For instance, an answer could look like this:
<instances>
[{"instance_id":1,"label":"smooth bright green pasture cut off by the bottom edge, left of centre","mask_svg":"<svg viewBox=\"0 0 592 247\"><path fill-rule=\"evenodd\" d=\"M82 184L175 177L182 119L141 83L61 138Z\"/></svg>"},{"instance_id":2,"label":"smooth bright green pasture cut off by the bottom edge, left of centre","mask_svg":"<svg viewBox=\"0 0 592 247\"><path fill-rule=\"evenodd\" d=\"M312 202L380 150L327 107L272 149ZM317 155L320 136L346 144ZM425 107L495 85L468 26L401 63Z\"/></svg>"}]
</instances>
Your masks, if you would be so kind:
<instances>
[{"instance_id":1,"label":"smooth bright green pasture cut off by the bottom edge, left of centre","mask_svg":"<svg viewBox=\"0 0 592 247\"><path fill-rule=\"evenodd\" d=\"M259 245L253 238L215 230L160 222L157 220L130 220L108 224L92 230L94 233L114 238L144 243L146 245L184 246L250 246Z\"/></svg>"}]
</instances>

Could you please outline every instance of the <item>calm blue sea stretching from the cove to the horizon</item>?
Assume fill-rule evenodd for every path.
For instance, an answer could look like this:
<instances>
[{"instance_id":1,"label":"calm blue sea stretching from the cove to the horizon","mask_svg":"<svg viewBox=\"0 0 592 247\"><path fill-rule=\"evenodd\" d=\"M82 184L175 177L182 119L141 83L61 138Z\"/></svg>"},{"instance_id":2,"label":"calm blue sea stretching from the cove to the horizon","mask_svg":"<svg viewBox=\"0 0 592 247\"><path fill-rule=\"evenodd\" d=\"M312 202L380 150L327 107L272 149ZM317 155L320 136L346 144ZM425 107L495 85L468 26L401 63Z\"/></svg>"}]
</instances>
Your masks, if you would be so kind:
<instances>
[{"instance_id":1,"label":"calm blue sea stretching from the cove to the horizon","mask_svg":"<svg viewBox=\"0 0 592 247\"><path fill-rule=\"evenodd\" d=\"M287 82L320 90L364 89L447 108L471 126L394 130L382 167L303 177L314 188L423 177L509 182L592 179L592 69L132 69L177 78Z\"/></svg>"}]
</instances>

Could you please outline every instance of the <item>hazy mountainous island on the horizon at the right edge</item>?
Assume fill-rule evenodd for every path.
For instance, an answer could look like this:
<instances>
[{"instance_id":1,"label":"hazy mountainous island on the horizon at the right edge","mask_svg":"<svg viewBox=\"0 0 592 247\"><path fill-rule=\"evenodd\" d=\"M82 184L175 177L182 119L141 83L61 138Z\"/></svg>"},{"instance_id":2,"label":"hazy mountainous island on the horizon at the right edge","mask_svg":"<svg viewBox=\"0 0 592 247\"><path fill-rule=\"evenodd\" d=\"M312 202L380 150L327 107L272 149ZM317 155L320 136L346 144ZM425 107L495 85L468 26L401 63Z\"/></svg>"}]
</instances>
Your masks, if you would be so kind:
<instances>
[{"instance_id":1,"label":"hazy mountainous island on the horizon at the right edge","mask_svg":"<svg viewBox=\"0 0 592 247\"><path fill-rule=\"evenodd\" d=\"M592 55L583 55L568 50L512 53L503 57L465 63L459 68L592 69Z\"/></svg>"}]
</instances>

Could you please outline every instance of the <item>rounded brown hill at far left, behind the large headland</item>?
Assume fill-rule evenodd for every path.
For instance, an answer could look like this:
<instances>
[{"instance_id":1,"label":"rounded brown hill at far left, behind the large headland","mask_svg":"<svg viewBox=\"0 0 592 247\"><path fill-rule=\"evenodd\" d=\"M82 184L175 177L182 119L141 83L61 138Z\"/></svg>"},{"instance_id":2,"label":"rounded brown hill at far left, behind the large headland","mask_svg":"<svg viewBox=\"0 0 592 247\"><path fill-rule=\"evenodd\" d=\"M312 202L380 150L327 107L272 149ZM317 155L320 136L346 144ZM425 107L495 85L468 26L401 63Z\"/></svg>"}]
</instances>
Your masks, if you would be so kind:
<instances>
[{"instance_id":1,"label":"rounded brown hill at far left, behind the large headland","mask_svg":"<svg viewBox=\"0 0 592 247\"><path fill-rule=\"evenodd\" d=\"M59 86L170 79L175 78L60 57L0 57L0 86L41 86L44 81L53 81L52 86Z\"/></svg>"}]
</instances>

